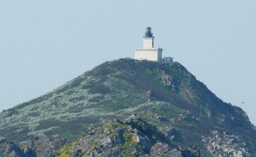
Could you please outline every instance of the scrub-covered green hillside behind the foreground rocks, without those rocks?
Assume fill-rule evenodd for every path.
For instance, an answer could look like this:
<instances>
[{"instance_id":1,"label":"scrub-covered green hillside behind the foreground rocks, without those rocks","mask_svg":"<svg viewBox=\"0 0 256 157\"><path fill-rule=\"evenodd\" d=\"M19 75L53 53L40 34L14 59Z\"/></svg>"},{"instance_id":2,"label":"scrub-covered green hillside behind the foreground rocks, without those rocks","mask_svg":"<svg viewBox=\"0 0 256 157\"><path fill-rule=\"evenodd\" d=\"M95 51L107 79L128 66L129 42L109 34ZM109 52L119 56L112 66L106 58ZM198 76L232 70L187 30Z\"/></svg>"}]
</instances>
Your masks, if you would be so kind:
<instances>
[{"instance_id":1,"label":"scrub-covered green hillside behind the foreground rocks, without those rocks","mask_svg":"<svg viewBox=\"0 0 256 157\"><path fill-rule=\"evenodd\" d=\"M44 96L0 113L0 136L16 143L35 136L49 142L73 141L91 125L126 119L132 113L177 146L201 149L202 156L214 154L209 143L215 142L215 131L219 133L215 140L229 133L238 145L245 145L241 154L256 154L256 131L247 114L220 100L177 62L107 61ZM237 149L229 145L233 146Z\"/></svg>"}]
</instances>

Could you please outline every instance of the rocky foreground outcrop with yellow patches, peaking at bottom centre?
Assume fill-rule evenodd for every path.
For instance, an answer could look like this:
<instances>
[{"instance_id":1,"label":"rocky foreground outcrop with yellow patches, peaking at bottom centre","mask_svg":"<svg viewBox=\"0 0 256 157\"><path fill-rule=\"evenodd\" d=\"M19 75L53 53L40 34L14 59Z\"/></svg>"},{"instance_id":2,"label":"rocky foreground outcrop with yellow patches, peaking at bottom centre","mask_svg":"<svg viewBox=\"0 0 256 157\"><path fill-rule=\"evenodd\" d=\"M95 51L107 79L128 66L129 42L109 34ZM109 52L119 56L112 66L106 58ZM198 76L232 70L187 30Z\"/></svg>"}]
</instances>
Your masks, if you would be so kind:
<instances>
[{"instance_id":1,"label":"rocky foreground outcrop with yellow patches, peaking at bottom centre","mask_svg":"<svg viewBox=\"0 0 256 157\"><path fill-rule=\"evenodd\" d=\"M169 143L169 144L168 144ZM154 125L132 116L129 119L112 120L90 129L79 141L59 150L59 155L75 156L168 156L197 157L192 152L172 145Z\"/></svg>"}]
</instances>

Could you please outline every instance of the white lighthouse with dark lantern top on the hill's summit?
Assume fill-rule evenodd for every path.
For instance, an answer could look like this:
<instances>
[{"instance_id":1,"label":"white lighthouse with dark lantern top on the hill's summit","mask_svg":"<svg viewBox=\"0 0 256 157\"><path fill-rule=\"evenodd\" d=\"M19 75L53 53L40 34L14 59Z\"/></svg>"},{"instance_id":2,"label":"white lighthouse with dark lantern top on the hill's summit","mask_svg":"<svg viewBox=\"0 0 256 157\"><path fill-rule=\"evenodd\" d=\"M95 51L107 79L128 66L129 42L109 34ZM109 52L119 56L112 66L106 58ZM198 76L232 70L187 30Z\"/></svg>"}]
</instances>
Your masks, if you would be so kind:
<instances>
[{"instance_id":1,"label":"white lighthouse with dark lantern top on the hill's summit","mask_svg":"<svg viewBox=\"0 0 256 157\"><path fill-rule=\"evenodd\" d=\"M135 49L134 58L136 60L162 61L162 51L163 49L154 48L154 36L151 28L148 26L143 36L143 49Z\"/></svg>"}]
</instances>

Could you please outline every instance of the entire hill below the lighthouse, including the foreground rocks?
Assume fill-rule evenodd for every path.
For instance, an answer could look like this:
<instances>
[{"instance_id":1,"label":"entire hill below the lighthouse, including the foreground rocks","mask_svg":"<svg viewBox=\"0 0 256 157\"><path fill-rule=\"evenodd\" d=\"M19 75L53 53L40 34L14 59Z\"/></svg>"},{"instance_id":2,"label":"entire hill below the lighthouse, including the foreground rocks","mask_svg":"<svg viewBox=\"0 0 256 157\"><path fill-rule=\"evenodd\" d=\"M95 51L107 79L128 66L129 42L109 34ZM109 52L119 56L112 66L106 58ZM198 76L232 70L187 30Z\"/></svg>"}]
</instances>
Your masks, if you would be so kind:
<instances>
[{"instance_id":1,"label":"entire hill below the lighthouse, including the foreground rocks","mask_svg":"<svg viewBox=\"0 0 256 157\"><path fill-rule=\"evenodd\" d=\"M4 110L0 137L7 156L256 154L247 114L177 62L107 61Z\"/></svg>"}]
</instances>

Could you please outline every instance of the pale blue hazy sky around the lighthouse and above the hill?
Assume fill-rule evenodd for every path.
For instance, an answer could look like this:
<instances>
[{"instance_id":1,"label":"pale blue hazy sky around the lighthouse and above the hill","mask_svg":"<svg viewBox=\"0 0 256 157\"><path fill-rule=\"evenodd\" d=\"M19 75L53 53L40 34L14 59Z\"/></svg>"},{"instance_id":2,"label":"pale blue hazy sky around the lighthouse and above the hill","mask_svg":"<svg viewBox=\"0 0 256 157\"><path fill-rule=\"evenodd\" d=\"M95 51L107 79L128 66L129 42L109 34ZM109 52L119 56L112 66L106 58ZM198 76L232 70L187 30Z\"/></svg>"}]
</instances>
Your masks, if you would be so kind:
<instances>
[{"instance_id":1,"label":"pale blue hazy sky around the lighthouse and above the hill","mask_svg":"<svg viewBox=\"0 0 256 157\"><path fill-rule=\"evenodd\" d=\"M147 26L163 55L256 125L255 0L1 1L0 111L133 57Z\"/></svg>"}]
</instances>

